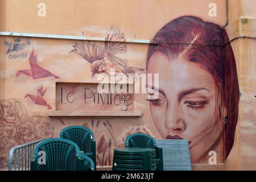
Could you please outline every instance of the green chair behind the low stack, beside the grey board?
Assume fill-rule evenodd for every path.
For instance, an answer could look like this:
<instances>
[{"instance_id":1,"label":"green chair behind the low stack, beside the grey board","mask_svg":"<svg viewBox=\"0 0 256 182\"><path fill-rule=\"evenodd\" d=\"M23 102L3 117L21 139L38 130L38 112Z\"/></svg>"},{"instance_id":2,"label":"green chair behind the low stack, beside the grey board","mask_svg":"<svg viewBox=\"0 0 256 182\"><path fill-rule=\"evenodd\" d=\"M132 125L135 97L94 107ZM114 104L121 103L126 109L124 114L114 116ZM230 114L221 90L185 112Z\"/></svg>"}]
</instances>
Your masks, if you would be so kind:
<instances>
[{"instance_id":1,"label":"green chair behind the low stack, beside the grey board","mask_svg":"<svg viewBox=\"0 0 256 182\"><path fill-rule=\"evenodd\" d=\"M131 134L126 137L125 147L154 148L156 151L156 171L163 171L163 150L156 146L156 141L150 135Z\"/></svg>"}]
</instances>

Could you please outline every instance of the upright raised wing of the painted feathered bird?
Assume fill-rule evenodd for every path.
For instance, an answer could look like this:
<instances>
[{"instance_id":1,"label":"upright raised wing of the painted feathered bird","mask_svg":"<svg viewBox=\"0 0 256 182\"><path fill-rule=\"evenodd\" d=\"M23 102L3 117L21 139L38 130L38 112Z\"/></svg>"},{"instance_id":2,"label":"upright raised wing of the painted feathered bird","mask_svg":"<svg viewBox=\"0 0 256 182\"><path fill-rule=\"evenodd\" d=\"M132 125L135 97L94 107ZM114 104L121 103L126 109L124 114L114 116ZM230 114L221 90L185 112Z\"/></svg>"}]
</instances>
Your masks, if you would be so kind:
<instances>
[{"instance_id":1,"label":"upright raised wing of the painted feathered bird","mask_svg":"<svg viewBox=\"0 0 256 182\"><path fill-rule=\"evenodd\" d=\"M120 30L114 30L114 28L111 27L105 40L105 51L107 54L127 52L126 39L123 32L121 33Z\"/></svg>"}]
</instances>

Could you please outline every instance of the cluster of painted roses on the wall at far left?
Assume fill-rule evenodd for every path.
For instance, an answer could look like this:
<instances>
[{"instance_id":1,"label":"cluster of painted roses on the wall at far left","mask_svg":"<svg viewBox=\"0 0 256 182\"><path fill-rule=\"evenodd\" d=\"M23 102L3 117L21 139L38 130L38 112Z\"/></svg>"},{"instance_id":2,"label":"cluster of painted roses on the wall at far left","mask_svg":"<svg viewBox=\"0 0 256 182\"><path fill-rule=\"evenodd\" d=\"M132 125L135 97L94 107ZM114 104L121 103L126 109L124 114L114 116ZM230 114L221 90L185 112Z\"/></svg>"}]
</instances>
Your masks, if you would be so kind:
<instances>
[{"instance_id":1,"label":"cluster of painted roses on the wall at far left","mask_svg":"<svg viewBox=\"0 0 256 182\"><path fill-rule=\"evenodd\" d=\"M45 113L28 111L18 99L0 100L0 106L0 168L5 168L12 147L53 137L53 123Z\"/></svg>"}]
</instances>

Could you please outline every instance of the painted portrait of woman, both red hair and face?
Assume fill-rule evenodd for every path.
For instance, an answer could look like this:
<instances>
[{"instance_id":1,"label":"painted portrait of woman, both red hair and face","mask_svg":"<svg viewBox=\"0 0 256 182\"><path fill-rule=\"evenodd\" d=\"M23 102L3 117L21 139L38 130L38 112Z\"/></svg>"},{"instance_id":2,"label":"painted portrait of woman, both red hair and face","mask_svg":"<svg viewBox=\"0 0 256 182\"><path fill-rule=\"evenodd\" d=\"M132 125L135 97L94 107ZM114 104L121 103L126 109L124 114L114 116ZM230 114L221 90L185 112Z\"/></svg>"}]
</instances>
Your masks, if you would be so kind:
<instances>
[{"instance_id":1,"label":"painted portrait of woman, both red hair and face","mask_svg":"<svg viewBox=\"0 0 256 182\"><path fill-rule=\"evenodd\" d=\"M224 162L234 144L239 87L228 35L218 24L181 16L161 28L148 47L146 72L159 73L158 98L148 95L163 139L187 139L192 163ZM150 85L152 84L152 85Z\"/></svg>"}]
</instances>

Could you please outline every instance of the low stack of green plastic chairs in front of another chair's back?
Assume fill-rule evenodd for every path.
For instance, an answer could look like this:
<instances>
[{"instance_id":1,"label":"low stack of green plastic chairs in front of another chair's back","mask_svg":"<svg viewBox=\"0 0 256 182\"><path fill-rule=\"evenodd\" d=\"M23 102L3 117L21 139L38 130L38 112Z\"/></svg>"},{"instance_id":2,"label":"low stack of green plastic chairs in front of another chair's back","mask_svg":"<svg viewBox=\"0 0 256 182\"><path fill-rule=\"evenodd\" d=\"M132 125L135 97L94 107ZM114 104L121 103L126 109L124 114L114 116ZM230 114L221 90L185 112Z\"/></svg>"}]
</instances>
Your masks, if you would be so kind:
<instances>
[{"instance_id":1,"label":"low stack of green plastic chairs in front of another chair's back","mask_svg":"<svg viewBox=\"0 0 256 182\"><path fill-rule=\"evenodd\" d=\"M155 150L119 148L114 150L113 171L155 171Z\"/></svg>"}]
</instances>

